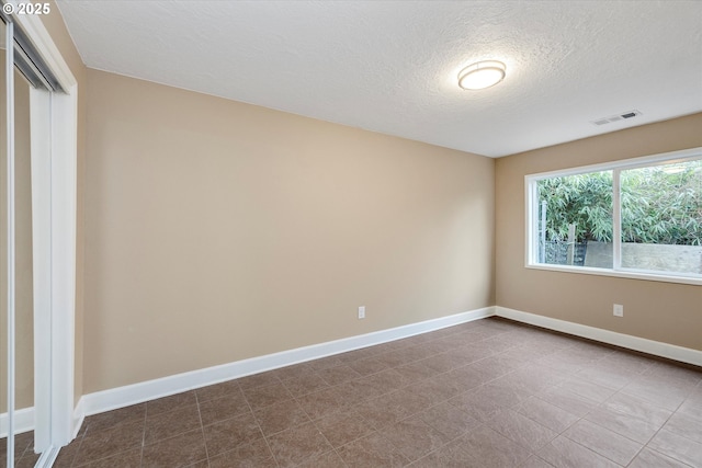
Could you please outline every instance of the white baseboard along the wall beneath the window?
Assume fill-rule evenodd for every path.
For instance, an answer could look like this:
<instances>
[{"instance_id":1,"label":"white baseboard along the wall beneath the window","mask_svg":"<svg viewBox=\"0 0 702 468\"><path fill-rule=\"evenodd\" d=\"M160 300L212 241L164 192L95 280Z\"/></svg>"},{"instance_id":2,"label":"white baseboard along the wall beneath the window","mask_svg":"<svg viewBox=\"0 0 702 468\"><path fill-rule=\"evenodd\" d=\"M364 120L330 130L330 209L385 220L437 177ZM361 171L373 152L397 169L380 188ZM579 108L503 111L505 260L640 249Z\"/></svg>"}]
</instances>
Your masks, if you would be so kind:
<instances>
[{"instance_id":1,"label":"white baseboard along the wall beneath the window","mask_svg":"<svg viewBox=\"0 0 702 468\"><path fill-rule=\"evenodd\" d=\"M548 330L555 330L568 334L574 334L576 336L599 341L602 343L614 344L616 346L641 351L643 353L653 354L654 356L666 357L669 359L680 361L682 363L702 366L702 351L692 350L689 347L676 346L675 344L647 340L645 338L632 336L630 334L623 334L595 327L567 322L565 320L552 319L550 317L539 316L535 313L522 312L520 310L508 309L507 307L495 306L495 315L518 322L542 327Z\"/></svg>"}]
</instances>

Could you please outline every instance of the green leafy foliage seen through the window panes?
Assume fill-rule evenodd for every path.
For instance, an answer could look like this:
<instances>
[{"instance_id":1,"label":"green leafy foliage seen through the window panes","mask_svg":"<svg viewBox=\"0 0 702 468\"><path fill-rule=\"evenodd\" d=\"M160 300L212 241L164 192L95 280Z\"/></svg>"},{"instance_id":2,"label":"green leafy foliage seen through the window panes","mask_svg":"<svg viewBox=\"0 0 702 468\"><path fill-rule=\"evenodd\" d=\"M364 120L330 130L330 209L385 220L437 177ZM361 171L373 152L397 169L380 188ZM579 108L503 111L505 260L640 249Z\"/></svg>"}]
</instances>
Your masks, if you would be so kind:
<instances>
[{"instance_id":1,"label":"green leafy foliage seen through the window panes","mask_svg":"<svg viewBox=\"0 0 702 468\"><path fill-rule=\"evenodd\" d=\"M621 172L622 241L702 244L702 160ZM612 172L539 181L546 202L546 240L612 241ZM540 203L541 206L541 203Z\"/></svg>"}]
</instances>

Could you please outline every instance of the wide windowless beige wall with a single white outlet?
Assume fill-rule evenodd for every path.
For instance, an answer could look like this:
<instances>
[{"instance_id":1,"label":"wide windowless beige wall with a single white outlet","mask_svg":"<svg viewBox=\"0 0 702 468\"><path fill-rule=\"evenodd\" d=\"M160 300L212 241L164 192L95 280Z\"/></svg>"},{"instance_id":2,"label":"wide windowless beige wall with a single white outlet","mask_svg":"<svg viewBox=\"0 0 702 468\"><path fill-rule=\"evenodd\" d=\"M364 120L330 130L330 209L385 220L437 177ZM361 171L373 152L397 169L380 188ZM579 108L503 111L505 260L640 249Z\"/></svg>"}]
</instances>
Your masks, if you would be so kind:
<instances>
[{"instance_id":1,"label":"wide windowless beige wall with a single white outlet","mask_svg":"<svg viewBox=\"0 0 702 468\"><path fill-rule=\"evenodd\" d=\"M494 304L494 160L88 76L86 392Z\"/></svg>"}]
</instances>

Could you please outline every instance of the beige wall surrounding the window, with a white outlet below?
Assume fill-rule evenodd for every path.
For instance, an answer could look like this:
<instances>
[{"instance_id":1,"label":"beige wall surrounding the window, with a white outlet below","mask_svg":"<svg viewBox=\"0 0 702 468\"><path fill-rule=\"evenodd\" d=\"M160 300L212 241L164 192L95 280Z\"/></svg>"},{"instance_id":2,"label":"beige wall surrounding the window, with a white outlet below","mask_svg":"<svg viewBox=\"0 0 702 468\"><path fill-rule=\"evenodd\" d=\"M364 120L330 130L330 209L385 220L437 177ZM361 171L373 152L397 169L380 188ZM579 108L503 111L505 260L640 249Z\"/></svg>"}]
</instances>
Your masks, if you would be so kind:
<instances>
[{"instance_id":1,"label":"beige wall surrounding the window, with a white outlet below","mask_svg":"<svg viewBox=\"0 0 702 468\"><path fill-rule=\"evenodd\" d=\"M496 299L525 312L702 350L702 287L524 267L524 175L702 146L702 114L496 161ZM624 317L612 316L612 304Z\"/></svg>"}]
</instances>

